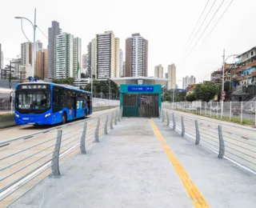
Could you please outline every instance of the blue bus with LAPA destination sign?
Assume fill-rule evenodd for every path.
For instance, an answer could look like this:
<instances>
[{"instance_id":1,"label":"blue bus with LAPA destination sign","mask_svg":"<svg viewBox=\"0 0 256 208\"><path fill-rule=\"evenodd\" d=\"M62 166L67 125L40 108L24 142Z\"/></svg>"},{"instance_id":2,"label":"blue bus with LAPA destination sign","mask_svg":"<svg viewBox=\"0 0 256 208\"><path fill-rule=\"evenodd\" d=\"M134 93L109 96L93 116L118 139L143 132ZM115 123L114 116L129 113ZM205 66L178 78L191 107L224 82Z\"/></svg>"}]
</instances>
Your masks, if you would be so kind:
<instances>
[{"instance_id":1,"label":"blue bus with LAPA destination sign","mask_svg":"<svg viewBox=\"0 0 256 208\"><path fill-rule=\"evenodd\" d=\"M54 83L29 82L16 86L15 122L17 125L65 124L92 114L90 92Z\"/></svg>"}]
</instances>

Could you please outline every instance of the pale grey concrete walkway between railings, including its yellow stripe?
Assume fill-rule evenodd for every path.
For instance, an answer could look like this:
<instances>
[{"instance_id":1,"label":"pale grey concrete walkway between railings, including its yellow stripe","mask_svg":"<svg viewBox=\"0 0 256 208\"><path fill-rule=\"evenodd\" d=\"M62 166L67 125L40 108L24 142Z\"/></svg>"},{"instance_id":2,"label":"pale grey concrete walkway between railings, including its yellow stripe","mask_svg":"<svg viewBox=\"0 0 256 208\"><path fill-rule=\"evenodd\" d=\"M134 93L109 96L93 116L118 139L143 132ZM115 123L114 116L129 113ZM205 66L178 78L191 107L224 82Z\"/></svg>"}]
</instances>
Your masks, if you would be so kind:
<instances>
[{"instance_id":1,"label":"pale grey concrete walkway between railings, including its yellow stripe","mask_svg":"<svg viewBox=\"0 0 256 208\"><path fill-rule=\"evenodd\" d=\"M47 178L10 207L194 207L192 189L211 207L256 206L256 176L153 121L123 118L62 166L61 178Z\"/></svg>"}]
</instances>

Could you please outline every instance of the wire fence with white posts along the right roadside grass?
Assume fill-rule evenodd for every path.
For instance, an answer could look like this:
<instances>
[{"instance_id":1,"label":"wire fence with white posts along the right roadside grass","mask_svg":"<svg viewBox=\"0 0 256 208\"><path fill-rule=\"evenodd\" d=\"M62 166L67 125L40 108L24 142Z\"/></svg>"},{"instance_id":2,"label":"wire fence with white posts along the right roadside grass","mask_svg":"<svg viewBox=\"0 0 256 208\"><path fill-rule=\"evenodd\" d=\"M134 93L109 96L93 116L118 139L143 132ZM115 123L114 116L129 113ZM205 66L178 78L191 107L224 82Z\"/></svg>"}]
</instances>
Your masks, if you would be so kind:
<instances>
[{"instance_id":1,"label":"wire fence with white posts along the right roadside grass","mask_svg":"<svg viewBox=\"0 0 256 208\"><path fill-rule=\"evenodd\" d=\"M221 102L163 102L162 106L167 109L186 111L223 121L256 126L256 101L223 102L223 115Z\"/></svg>"}]
</instances>

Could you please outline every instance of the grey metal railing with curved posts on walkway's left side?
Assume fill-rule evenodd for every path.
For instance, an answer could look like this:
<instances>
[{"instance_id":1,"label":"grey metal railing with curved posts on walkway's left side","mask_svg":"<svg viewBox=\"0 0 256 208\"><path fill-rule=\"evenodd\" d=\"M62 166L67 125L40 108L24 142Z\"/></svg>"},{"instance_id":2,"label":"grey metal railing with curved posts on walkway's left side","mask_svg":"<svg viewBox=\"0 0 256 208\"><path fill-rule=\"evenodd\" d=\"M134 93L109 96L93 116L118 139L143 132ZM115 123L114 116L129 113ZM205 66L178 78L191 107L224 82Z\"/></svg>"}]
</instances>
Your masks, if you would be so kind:
<instances>
[{"instance_id":1,"label":"grey metal railing with curved posts on walkway's left side","mask_svg":"<svg viewBox=\"0 0 256 208\"><path fill-rule=\"evenodd\" d=\"M96 118L0 142L0 146L15 147L1 151L0 207L15 202L49 175L61 177L60 166L76 154L86 154L86 146L99 142L121 119L122 108L116 108Z\"/></svg>"}]
</instances>

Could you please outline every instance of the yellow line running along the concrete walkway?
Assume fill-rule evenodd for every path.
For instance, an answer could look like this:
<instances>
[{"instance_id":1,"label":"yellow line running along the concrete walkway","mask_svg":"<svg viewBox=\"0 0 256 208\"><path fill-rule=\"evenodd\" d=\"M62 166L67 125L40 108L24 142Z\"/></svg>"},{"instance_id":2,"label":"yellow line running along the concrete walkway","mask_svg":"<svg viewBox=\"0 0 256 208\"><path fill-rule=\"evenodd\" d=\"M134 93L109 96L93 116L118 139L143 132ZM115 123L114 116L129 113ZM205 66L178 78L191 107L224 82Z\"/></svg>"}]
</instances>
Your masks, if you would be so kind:
<instances>
[{"instance_id":1,"label":"yellow line running along the concrete walkway","mask_svg":"<svg viewBox=\"0 0 256 208\"><path fill-rule=\"evenodd\" d=\"M207 204L205 198L203 198L202 194L198 190L197 186L194 185L194 182L192 182L192 180L190 179L188 174L186 174L186 171L182 167L182 164L180 162L178 162L178 159L175 157L173 152L170 150L170 147L168 146L165 138L162 137L162 134L159 132L158 127L155 126L152 119L150 119L150 124L154 130L154 134L158 138L158 141L162 144L162 148L165 151L167 158L173 164L174 169L176 170L176 172L178 174L178 177L181 179L183 186L186 189L187 194L189 194L190 198L192 199L194 206L196 208L210 207Z\"/></svg>"}]
</instances>

